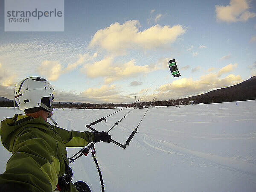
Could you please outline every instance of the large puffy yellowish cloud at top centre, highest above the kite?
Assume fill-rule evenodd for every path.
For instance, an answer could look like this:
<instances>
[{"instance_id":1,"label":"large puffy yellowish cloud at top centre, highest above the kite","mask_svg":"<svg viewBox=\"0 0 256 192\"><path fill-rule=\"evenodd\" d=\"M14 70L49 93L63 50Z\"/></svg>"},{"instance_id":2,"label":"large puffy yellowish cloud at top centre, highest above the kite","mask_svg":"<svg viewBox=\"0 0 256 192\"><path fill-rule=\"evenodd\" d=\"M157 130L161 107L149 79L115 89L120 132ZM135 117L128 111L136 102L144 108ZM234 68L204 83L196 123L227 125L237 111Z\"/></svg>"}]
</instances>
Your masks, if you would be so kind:
<instances>
[{"instance_id":1,"label":"large puffy yellowish cloud at top centre, highest above the kite","mask_svg":"<svg viewBox=\"0 0 256 192\"><path fill-rule=\"evenodd\" d=\"M148 50L172 44L178 36L185 33L181 25L170 27L157 24L143 31L139 31L138 27L138 20L111 24L95 33L89 47L100 47L108 52L124 54L128 49Z\"/></svg>"}]
</instances>

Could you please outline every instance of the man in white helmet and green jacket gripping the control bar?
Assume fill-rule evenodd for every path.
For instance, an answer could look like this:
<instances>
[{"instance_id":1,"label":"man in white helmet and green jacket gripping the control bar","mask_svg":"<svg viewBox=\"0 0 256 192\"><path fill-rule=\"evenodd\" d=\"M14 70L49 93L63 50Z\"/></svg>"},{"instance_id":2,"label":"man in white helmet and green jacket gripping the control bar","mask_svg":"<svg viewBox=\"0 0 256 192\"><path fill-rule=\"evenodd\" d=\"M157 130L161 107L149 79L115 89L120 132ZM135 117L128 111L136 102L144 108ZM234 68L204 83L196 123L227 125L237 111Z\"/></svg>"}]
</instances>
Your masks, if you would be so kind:
<instances>
[{"instance_id":1,"label":"man in white helmet and green jacket gripping the control bar","mask_svg":"<svg viewBox=\"0 0 256 192\"><path fill-rule=\"evenodd\" d=\"M0 192L77 192L71 182L66 147L83 147L100 140L110 143L106 132L67 131L51 125L53 87L46 79L29 77L15 87L15 101L25 115L1 122L0 135L12 152L6 172L0 175ZM63 176L70 176L70 179Z\"/></svg>"}]
</instances>

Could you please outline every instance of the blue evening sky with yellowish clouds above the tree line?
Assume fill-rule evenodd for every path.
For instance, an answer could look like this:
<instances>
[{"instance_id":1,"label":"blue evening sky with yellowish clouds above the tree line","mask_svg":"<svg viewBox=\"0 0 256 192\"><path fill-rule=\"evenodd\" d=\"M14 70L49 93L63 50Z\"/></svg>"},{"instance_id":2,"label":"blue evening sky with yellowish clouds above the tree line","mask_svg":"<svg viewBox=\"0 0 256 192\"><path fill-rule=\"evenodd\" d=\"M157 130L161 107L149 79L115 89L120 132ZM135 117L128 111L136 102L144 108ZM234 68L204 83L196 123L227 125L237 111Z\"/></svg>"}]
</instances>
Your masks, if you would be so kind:
<instances>
[{"instance_id":1,"label":"blue evening sky with yellowish clouds above the tree line","mask_svg":"<svg viewBox=\"0 0 256 192\"><path fill-rule=\"evenodd\" d=\"M0 0L0 96L8 99L30 76L50 81L55 102L185 98L255 76L255 53L255 0L65 0L64 32L5 32Z\"/></svg>"}]
</instances>

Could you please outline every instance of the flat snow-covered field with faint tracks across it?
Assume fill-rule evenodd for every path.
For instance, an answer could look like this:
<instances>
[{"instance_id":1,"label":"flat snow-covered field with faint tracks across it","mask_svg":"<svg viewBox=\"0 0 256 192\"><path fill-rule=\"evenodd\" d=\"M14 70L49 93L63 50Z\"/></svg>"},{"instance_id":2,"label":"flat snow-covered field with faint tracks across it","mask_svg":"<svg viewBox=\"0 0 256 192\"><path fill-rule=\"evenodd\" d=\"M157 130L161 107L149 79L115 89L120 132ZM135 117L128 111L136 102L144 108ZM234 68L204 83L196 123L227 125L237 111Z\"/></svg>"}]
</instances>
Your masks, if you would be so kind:
<instances>
[{"instance_id":1,"label":"flat snow-covered field with faint tracks across it","mask_svg":"<svg viewBox=\"0 0 256 192\"><path fill-rule=\"evenodd\" d=\"M120 143L140 122L146 109L134 109L110 134ZM68 130L116 110L54 110L53 119ZM0 108L0 119L20 113ZM108 131L128 113L124 109L93 126ZM49 121L49 120L48 120ZM130 145L98 143L96 157L107 192L256 191L256 100L219 104L150 108ZM68 156L80 148L67 148ZM11 156L0 146L0 172ZM84 180L101 190L91 154L72 165L73 182Z\"/></svg>"}]
</instances>

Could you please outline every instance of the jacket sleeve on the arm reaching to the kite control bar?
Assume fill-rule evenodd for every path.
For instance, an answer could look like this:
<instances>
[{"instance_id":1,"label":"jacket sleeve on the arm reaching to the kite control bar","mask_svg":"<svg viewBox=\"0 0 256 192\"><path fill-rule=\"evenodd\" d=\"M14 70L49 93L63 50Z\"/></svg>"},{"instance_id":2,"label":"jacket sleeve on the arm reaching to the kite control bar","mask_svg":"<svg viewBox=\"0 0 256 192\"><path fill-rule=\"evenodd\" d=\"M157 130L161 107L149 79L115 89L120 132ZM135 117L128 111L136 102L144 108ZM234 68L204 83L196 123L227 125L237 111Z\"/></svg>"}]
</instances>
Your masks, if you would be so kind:
<instances>
[{"instance_id":1,"label":"jacket sleeve on the arm reaching to the kite control bar","mask_svg":"<svg viewBox=\"0 0 256 192\"><path fill-rule=\"evenodd\" d=\"M65 147L84 147L94 140L94 134L90 131L68 131L56 126L54 128L61 136Z\"/></svg>"}]
</instances>

